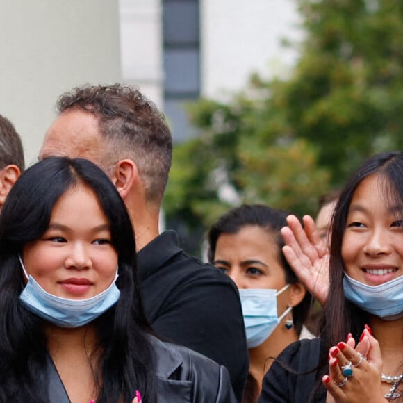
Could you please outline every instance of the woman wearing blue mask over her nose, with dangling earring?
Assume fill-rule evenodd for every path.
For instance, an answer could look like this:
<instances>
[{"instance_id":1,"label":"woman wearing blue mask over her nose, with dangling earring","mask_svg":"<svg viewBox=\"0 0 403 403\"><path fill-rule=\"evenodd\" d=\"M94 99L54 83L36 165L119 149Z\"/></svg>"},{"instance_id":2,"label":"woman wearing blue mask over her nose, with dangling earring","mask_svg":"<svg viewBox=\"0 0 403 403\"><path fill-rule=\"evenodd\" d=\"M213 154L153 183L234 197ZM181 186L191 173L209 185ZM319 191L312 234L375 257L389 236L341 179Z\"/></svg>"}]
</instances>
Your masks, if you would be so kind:
<instances>
[{"instance_id":1,"label":"woman wearing blue mask over her nose, with dangling earring","mask_svg":"<svg viewBox=\"0 0 403 403\"><path fill-rule=\"evenodd\" d=\"M265 371L273 357L301 336L311 306L311 295L281 251L280 229L288 214L244 204L208 231L209 261L233 279L240 293L250 363L243 403L256 403ZM304 329L304 334L309 332Z\"/></svg>"}]
</instances>

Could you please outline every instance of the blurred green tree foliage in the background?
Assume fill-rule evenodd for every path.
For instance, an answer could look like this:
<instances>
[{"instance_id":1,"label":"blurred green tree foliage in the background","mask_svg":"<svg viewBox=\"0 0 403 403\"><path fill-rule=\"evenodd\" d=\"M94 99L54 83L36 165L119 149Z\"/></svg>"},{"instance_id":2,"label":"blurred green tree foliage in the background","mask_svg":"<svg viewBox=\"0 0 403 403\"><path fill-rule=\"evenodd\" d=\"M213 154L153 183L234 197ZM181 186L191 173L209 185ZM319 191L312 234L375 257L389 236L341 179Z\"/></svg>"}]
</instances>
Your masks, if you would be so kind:
<instances>
[{"instance_id":1,"label":"blurred green tree foliage in the background","mask_svg":"<svg viewBox=\"0 0 403 403\"><path fill-rule=\"evenodd\" d=\"M305 31L287 79L252 76L224 103L188 107L167 217L208 225L240 202L315 213L364 158L403 147L403 2L299 0Z\"/></svg>"}]
</instances>

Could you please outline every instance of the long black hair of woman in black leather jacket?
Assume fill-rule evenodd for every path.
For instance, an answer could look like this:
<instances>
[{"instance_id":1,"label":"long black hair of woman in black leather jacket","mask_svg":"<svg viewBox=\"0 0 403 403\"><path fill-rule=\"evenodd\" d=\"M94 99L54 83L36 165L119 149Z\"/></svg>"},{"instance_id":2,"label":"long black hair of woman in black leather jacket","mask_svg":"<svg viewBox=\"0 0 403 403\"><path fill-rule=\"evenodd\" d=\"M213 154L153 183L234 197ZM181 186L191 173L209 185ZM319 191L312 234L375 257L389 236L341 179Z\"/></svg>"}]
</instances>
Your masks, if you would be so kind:
<instances>
[{"instance_id":1,"label":"long black hair of woman in black leather jacket","mask_svg":"<svg viewBox=\"0 0 403 403\"><path fill-rule=\"evenodd\" d=\"M47 230L56 201L69 188L88 186L110 223L118 254L120 299L94 320L100 352L93 368L97 402L156 400L150 331L140 295L135 240L119 193L99 167L76 158L45 158L31 166L10 190L0 216L0 401L47 402L47 340L43 320L19 302L24 288L18 254Z\"/></svg>"}]
</instances>

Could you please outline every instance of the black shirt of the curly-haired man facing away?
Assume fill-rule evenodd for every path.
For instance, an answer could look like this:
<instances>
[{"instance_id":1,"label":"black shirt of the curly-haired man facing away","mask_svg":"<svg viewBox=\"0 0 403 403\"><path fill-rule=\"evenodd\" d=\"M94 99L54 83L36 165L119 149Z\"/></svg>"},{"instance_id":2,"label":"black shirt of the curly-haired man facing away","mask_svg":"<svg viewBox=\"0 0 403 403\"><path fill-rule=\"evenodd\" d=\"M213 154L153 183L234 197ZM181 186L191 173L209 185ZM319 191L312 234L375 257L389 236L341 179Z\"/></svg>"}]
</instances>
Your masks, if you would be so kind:
<instances>
[{"instance_id":1,"label":"black shirt of the curly-haired man facing away","mask_svg":"<svg viewBox=\"0 0 403 403\"><path fill-rule=\"evenodd\" d=\"M249 359L233 281L183 252L172 230L143 247L138 264L145 313L156 334L227 367L240 402Z\"/></svg>"}]
</instances>

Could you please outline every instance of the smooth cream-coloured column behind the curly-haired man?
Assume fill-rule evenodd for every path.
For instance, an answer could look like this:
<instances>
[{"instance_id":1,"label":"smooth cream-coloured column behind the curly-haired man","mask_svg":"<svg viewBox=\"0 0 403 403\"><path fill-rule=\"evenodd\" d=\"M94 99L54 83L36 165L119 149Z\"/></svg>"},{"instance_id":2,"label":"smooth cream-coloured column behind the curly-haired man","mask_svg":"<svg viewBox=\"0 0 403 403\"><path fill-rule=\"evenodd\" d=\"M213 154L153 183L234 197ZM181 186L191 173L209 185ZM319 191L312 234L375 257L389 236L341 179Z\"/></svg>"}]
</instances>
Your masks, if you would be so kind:
<instances>
[{"instance_id":1,"label":"smooth cream-coloured column behind the curly-haired man","mask_svg":"<svg viewBox=\"0 0 403 403\"><path fill-rule=\"evenodd\" d=\"M61 93L122 81L117 0L0 0L0 55L0 113L29 165Z\"/></svg>"}]
</instances>

